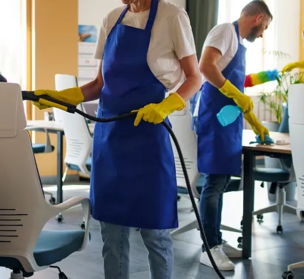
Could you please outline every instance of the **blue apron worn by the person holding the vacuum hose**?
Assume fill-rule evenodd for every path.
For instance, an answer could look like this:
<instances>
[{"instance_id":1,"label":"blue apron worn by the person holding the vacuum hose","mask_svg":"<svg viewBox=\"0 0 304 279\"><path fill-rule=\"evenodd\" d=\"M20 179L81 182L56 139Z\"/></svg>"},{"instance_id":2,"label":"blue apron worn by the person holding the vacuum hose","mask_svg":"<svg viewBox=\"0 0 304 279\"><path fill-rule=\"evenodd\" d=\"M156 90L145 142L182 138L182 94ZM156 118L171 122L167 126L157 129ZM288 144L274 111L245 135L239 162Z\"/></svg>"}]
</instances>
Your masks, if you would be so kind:
<instances>
[{"instance_id":1,"label":"blue apron worn by the person holding the vacuum hose","mask_svg":"<svg viewBox=\"0 0 304 279\"><path fill-rule=\"evenodd\" d=\"M153 0L145 29L138 29L121 24L126 7L110 31L102 60L104 87L97 117L128 113L165 98L165 86L147 64L157 9L158 0ZM92 217L130 227L176 228L177 182L170 135L162 124L142 120L135 127L134 120L95 124Z\"/></svg>"}]
</instances>

